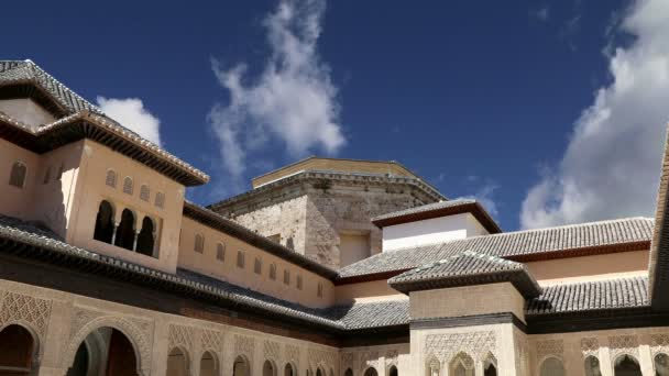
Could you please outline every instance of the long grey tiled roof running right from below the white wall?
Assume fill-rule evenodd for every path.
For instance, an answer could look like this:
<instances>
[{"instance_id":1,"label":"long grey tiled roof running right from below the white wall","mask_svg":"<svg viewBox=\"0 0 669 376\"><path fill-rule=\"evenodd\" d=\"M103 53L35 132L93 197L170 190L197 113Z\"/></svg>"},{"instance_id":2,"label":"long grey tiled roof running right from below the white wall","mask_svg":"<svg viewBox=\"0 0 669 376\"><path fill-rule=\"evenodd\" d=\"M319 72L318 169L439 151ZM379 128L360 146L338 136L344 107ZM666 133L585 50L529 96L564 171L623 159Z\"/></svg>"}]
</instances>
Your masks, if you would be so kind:
<instances>
[{"instance_id":1,"label":"long grey tiled roof running right from below the white wall","mask_svg":"<svg viewBox=\"0 0 669 376\"><path fill-rule=\"evenodd\" d=\"M650 241L654 221L627 218L612 221L572 224L541 230L474 236L439 244L383 252L339 270L339 279L403 272L464 251L497 257L549 258L566 253L578 255L585 250L611 246L639 246Z\"/></svg>"}]
</instances>

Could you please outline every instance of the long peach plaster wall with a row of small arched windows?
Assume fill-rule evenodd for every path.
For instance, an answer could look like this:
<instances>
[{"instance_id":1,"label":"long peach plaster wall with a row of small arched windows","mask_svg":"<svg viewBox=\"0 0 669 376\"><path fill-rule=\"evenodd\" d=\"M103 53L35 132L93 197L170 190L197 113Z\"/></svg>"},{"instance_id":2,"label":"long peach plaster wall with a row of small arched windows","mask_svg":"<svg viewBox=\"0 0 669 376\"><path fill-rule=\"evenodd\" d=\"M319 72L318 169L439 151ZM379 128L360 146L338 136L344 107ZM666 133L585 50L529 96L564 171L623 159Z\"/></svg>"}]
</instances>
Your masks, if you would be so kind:
<instances>
[{"instance_id":1,"label":"long peach plaster wall with a row of small arched windows","mask_svg":"<svg viewBox=\"0 0 669 376\"><path fill-rule=\"evenodd\" d=\"M194 251L196 234L202 234L205 237L202 253ZM223 261L216 257L218 243L223 244L226 248ZM244 254L243 268L237 265L239 251ZM256 258L261 259L261 274L256 274L254 270ZM276 265L275 280L270 278L270 265L272 264ZM334 302L334 286L329 279L189 218L184 218L182 223L178 265L307 307L322 308ZM284 270L288 270L290 274L289 285L284 284ZM303 278L301 290L297 288L298 275ZM322 298L319 298L317 294L318 284L323 286Z\"/></svg>"}]
</instances>

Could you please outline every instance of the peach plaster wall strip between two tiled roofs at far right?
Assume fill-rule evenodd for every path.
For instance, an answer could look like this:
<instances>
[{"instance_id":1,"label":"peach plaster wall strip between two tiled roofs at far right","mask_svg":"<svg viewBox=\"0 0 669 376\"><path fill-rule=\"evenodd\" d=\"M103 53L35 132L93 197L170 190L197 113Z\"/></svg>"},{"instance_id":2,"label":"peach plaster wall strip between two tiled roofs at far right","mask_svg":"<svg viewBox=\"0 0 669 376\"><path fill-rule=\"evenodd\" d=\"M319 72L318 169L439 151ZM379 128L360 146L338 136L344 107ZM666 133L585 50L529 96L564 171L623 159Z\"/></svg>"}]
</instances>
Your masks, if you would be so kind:
<instances>
[{"instance_id":1,"label":"peach plaster wall strip between two tiled roofs at far right","mask_svg":"<svg viewBox=\"0 0 669 376\"><path fill-rule=\"evenodd\" d=\"M573 284L648 275L649 251L548 259L527 263L539 285Z\"/></svg>"}]
</instances>

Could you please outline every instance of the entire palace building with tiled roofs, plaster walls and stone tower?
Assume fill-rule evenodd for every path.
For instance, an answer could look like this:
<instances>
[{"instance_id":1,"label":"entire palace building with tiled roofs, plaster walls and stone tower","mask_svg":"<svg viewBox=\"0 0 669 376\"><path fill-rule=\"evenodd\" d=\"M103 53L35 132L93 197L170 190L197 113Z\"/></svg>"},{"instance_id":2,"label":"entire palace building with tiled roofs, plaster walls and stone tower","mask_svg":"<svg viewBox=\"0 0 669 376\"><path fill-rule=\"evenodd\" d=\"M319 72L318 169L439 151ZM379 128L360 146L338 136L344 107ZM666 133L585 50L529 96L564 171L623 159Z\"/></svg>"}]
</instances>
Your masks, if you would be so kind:
<instances>
[{"instance_id":1,"label":"entire palace building with tiled roofs, plaster walls and stone tower","mask_svg":"<svg viewBox=\"0 0 669 376\"><path fill-rule=\"evenodd\" d=\"M0 375L669 375L658 175L655 218L515 232L396 162L202 207L207 174L0 60Z\"/></svg>"}]
</instances>

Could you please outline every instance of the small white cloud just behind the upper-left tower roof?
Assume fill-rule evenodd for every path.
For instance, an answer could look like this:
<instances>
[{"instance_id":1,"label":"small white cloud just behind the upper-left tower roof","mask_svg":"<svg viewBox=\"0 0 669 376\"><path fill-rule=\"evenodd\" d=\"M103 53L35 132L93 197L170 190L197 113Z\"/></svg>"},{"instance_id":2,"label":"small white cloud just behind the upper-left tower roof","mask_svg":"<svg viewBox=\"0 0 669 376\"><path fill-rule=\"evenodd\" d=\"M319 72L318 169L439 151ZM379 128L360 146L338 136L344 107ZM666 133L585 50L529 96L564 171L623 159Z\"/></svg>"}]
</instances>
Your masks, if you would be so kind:
<instances>
[{"instance_id":1,"label":"small white cloud just behind the upper-left tower roof","mask_svg":"<svg viewBox=\"0 0 669 376\"><path fill-rule=\"evenodd\" d=\"M161 146L161 121L144 108L139 98L98 97L98 106L108 117L142 137Z\"/></svg>"}]
</instances>

